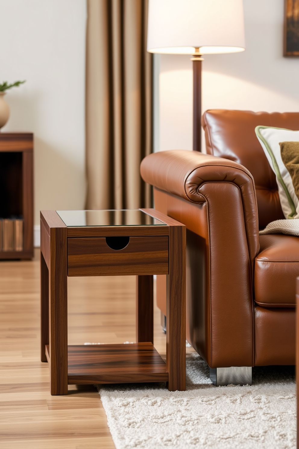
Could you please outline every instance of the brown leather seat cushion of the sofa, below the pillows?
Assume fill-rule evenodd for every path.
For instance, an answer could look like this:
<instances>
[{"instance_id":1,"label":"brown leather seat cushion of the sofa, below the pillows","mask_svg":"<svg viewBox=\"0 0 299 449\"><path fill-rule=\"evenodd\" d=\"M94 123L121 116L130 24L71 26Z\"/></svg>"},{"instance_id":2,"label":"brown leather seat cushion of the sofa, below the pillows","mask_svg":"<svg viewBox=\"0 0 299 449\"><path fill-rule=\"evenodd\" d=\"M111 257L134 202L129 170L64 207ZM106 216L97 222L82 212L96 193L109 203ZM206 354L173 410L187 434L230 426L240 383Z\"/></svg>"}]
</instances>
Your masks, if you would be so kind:
<instances>
[{"instance_id":1,"label":"brown leather seat cushion of the sofa, below the pillows","mask_svg":"<svg viewBox=\"0 0 299 449\"><path fill-rule=\"evenodd\" d=\"M260 235L255 263L255 301L261 307L295 307L299 237Z\"/></svg>"}]
</instances>

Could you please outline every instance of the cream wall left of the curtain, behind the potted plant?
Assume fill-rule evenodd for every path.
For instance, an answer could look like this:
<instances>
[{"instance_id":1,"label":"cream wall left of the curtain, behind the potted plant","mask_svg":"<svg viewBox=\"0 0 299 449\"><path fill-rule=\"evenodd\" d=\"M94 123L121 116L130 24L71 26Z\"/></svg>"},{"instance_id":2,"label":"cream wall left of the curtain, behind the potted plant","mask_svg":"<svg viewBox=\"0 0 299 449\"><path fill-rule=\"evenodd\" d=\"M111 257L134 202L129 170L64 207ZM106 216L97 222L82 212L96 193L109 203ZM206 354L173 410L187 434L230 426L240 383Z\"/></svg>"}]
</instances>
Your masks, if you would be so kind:
<instances>
[{"instance_id":1,"label":"cream wall left of the curtain, behind the potted plant","mask_svg":"<svg viewBox=\"0 0 299 449\"><path fill-rule=\"evenodd\" d=\"M0 82L26 79L5 96L3 132L34 132L35 225L40 209L85 202L85 0L0 0Z\"/></svg>"}]
</instances>

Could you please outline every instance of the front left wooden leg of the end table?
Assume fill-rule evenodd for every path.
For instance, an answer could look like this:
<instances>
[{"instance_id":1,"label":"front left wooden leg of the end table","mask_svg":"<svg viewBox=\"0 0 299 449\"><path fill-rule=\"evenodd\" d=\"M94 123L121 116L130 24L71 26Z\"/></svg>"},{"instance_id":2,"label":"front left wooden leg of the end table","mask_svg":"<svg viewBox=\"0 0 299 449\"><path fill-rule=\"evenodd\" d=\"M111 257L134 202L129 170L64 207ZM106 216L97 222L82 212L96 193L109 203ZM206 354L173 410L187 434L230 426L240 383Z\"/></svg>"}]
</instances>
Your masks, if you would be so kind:
<instances>
[{"instance_id":1,"label":"front left wooden leg of the end table","mask_svg":"<svg viewBox=\"0 0 299 449\"><path fill-rule=\"evenodd\" d=\"M50 229L50 391L68 392L67 228Z\"/></svg>"}]
</instances>

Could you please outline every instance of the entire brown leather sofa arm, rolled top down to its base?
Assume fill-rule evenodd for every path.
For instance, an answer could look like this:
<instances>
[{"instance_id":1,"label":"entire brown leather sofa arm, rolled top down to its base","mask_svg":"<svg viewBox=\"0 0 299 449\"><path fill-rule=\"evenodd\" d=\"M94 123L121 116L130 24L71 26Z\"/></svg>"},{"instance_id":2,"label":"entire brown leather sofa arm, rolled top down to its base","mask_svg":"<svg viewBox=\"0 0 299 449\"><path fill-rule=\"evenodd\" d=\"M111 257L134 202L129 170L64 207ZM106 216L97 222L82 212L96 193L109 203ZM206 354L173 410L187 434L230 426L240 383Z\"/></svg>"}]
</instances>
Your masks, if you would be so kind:
<instances>
[{"instance_id":1,"label":"entire brown leather sofa arm, rolled top down to its base","mask_svg":"<svg viewBox=\"0 0 299 449\"><path fill-rule=\"evenodd\" d=\"M212 368L252 366L259 235L250 172L187 150L150 154L140 172L154 186L156 208L187 227L188 341Z\"/></svg>"}]
</instances>

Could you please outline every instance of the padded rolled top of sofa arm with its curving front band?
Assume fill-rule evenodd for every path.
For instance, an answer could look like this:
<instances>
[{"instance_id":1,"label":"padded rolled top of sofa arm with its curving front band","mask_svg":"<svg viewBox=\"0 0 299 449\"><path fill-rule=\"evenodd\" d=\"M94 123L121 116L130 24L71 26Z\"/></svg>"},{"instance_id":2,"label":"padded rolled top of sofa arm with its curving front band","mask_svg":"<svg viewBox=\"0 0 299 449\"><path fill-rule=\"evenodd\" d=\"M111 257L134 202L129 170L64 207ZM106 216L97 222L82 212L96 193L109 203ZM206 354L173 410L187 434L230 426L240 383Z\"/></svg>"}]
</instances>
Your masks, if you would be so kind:
<instances>
[{"instance_id":1,"label":"padded rolled top of sofa arm with its curving front band","mask_svg":"<svg viewBox=\"0 0 299 449\"><path fill-rule=\"evenodd\" d=\"M250 259L254 259L259 249L256 189L251 173L243 165L196 151L167 150L144 158L140 173L145 182L195 203L207 201L207 183L229 182L238 186Z\"/></svg>"}]
</instances>

